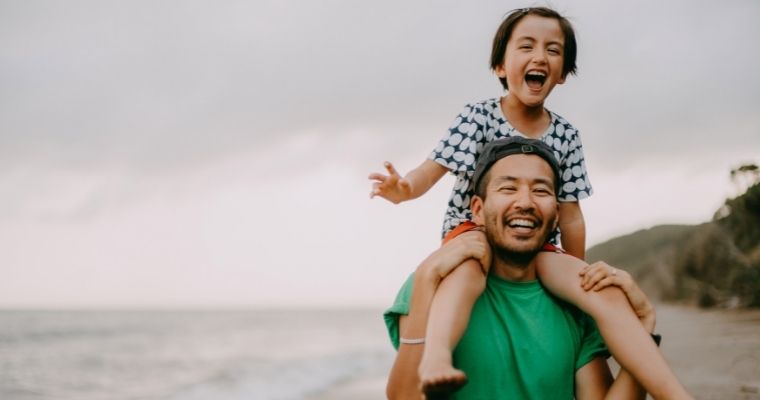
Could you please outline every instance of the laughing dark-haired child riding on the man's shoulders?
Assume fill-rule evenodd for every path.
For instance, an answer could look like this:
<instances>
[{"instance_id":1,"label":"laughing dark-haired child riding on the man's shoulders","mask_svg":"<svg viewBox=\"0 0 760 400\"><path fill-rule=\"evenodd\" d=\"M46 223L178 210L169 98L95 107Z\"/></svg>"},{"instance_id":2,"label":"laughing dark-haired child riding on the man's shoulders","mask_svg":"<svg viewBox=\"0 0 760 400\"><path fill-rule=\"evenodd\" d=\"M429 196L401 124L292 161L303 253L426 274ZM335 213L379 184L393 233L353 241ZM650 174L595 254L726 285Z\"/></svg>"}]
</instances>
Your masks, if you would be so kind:
<instances>
[{"instance_id":1,"label":"laughing dark-haired child riding on the man's shoulders","mask_svg":"<svg viewBox=\"0 0 760 400\"><path fill-rule=\"evenodd\" d=\"M386 162L388 175L371 174L371 197L394 204L428 191L447 171L456 175L443 225L444 243L472 230L469 210L470 180L484 143L508 136L539 139L555 149L562 167L559 194L561 242L577 258L585 253L585 224L578 200L591 195L583 150L577 130L559 115L544 108L544 101L568 74L575 73L576 42L569 21L549 8L515 10L499 26L493 42L491 68L507 95L467 105L448 134L420 166L401 178ZM646 334L615 330L615 314L587 301L576 290L578 281L553 257L539 256L542 283L553 294L594 317L618 362L655 397L688 397ZM441 283L430 308L425 348L419 366L422 389L428 394L456 390L466 382L452 366L451 352L467 327L472 306L485 288L488 265L468 260ZM581 291L582 292L582 291ZM630 312L630 310L629 310ZM643 332L643 331L642 331ZM634 337L631 337L634 336ZM421 342L422 339L416 341Z\"/></svg>"}]
</instances>

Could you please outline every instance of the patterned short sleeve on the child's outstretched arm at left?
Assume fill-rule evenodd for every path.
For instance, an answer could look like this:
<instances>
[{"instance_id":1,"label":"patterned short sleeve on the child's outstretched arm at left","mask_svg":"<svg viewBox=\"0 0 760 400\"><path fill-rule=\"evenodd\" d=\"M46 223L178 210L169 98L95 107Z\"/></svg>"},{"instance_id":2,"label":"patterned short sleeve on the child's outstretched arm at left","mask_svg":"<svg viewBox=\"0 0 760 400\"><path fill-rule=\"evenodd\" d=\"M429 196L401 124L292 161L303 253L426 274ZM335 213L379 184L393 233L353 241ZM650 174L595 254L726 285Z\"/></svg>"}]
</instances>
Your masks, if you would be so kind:
<instances>
[{"instance_id":1,"label":"patterned short sleeve on the child's outstretched arm at left","mask_svg":"<svg viewBox=\"0 0 760 400\"><path fill-rule=\"evenodd\" d=\"M466 105L428 159L443 165L451 172L473 173L477 155L483 149L485 124L483 105Z\"/></svg>"}]
</instances>

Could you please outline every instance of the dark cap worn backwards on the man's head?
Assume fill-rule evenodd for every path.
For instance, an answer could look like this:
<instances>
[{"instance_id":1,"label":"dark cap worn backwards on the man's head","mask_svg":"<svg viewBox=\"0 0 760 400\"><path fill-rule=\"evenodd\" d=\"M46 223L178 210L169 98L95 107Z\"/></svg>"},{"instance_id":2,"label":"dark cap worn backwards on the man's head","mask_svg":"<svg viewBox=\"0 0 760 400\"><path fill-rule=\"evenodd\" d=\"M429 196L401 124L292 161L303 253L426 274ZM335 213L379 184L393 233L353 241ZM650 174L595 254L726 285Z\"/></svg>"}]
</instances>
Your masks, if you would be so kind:
<instances>
[{"instance_id":1,"label":"dark cap worn backwards on the man's head","mask_svg":"<svg viewBox=\"0 0 760 400\"><path fill-rule=\"evenodd\" d=\"M475 165L475 173L472 176L472 189L477 189L483 175L488 172L496 161L512 154L535 154L543 158L554 172L554 192L559 194L559 162L554 156L554 150L540 140L528 139L522 136L497 139L483 146L483 150L478 157L478 162Z\"/></svg>"}]
</instances>

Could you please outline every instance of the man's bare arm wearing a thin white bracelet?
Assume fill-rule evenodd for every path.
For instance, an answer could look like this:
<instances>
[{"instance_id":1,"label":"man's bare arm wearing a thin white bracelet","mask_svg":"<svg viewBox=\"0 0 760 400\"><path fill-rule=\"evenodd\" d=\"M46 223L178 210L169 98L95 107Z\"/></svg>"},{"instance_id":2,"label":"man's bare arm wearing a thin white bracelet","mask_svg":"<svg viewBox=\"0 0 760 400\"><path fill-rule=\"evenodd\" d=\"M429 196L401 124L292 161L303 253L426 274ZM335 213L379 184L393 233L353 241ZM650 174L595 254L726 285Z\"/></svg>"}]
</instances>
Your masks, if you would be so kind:
<instances>
[{"instance_id":1,"label":"man's bare arm wearing a thin white bracelet","mask_svg":"<svg viewBox=\"0 0 760 400\"><path fill-rule=\"evenodd\" d=\"M406 339L425 337L428 313L438 285L454 268L474 258L490 265L490 250L482 232L465 232L433 252L414 274L414 288L409 302L409 314L399 320L399 336ZM399 344L396 360L388 375L386 395L389 399L419 400L420 380L417 368L424 344Z\"/></svg>"}]
</instances>

